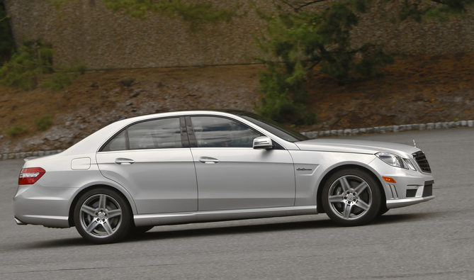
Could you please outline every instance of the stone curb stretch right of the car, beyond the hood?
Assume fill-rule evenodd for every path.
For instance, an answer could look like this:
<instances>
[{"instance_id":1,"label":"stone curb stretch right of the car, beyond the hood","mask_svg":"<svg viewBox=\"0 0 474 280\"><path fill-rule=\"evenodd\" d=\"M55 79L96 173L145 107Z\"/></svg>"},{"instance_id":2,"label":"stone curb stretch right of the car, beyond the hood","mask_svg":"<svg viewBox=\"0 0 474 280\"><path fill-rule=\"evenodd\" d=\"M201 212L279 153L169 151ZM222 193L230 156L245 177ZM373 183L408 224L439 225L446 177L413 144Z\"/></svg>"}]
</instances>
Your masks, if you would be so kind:
<instances>
[{"instance_id":1,"label":"stone curb stretch right of the car, beyond the hood","mask_svg":"<svg viewBox=\"0 0 474 280\"><path fill-rule=\"evenodd\" d=\"M353 128L353 129L339 129L339 130L322 130L322 131L308 131L301 133L308 138L322 138L333 136L353 136L371 133L398 133L402 131L414 130L432 130L441 128L461 128L474 126L474 121L449 121L445 123L413 123L410 125L388 125L376 126L373 128Z\"/></svg>"}]
</instances>

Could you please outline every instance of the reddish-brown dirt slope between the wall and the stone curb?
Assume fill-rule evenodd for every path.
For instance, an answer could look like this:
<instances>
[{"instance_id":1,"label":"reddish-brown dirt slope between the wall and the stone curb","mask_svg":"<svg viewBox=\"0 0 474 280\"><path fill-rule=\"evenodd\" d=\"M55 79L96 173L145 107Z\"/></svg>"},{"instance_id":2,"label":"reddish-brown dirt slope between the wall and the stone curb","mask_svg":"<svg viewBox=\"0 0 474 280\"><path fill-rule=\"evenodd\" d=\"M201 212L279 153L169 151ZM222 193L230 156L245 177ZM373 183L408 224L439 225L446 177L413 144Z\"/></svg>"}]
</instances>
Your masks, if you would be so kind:
<instances>
[{"instance_id":1,"label":"reddish-brown dirt slope between the wall and the stone curb","mask_svg":"<svg viewBox=\"0 0 474 280\"><path fill-rule=\"evenodd\" d=\"M309 78L307 106L314 125L300 131L367 128L474 119L474 54L398 58L385 79L338 86L322 74ZM259 65L126 69L87 72L61 91L0 87L0 154L65 149L98 128L148 113L201 108L252 111ZM124 86L123 79L133 79ZM35 119L51 114L39 131ZM12 137L6 130L26 125ZM287 123L291 125L291 123Z\"/></svg>"}]
</instances>

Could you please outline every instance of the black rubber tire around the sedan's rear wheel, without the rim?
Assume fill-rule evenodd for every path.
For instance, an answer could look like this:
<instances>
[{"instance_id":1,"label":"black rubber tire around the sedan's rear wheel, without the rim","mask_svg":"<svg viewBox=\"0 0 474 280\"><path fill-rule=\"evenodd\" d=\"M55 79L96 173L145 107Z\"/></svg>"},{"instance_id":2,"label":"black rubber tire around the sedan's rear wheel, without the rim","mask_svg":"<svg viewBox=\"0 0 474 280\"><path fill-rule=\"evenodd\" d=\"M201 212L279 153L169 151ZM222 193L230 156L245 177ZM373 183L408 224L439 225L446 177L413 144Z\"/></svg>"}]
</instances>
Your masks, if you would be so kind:
<instances>
[{"instance_id":1,"label":"black rubber tire around the sedan's rear wheel, without the rim","mask_svg":"<svg viewBox=\"0 0 474 280\"><path fill-rule=\"evenodd\" d=\"M81 225L81 217L80 217L80 209L84 201L86 201L88 198L91 196L95 196L97 194L106 194L108 196L111 196L115 201L118 202L120 205L120 208L122 210L122 221L120 223L120 227L118 230L113 233L113 235L108 236L108 237L103 237L103 238L98 238L89 235L89 233L86 233L86 230L82 228ZM132 225L132 214L130 211L130 207L128 206L128 202L125 201L125 198L118 194L117 191L113 191L111 189L106 189L106 188L98 188L98 189L92 189L90 191L86 191L86 193L82 194L79 200L77 201L76 205L74 206L74 225L76 225L76 230L77 232L84 237L84 239L93 242L95 244L108 244L108 243L113 243L113 242L118 242L122 240L128 233L130 232L130 228Z\"/></svg>"}]
</instances>

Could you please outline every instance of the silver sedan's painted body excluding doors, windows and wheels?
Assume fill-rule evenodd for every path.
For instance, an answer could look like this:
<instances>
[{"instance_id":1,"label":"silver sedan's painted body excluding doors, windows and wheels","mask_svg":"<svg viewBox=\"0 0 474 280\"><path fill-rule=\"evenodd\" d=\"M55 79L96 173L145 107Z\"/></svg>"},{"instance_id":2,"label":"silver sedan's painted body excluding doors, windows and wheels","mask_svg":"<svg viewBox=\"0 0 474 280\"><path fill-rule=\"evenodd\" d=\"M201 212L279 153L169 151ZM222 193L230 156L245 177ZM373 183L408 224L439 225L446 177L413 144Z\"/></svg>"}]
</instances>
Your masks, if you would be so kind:
<instances>
[{"instance_id":1,"label":"silver sedan's painted body excluding doors, windows and wheels","mask_svg":"<svg viewBox=\"0 0 474 280\"><path fill-rule=\"evenodd\" d=\"M140 207L137 206L133 195L140 191L140 186L122 186L117 181L104 177L98 166L97 155L99 147L123 128L132 123L153 118L153 116L142 116L108 125L60 154L26 160L23 168L42 167L47 172L35 184L18 186L16 196L13 198L13 210L17 223L45 225L51 228L74 226L72 211L76 199L84 191L96 186L106 186L119 191L128 201L137 226L321 213L324 212L324 209L321 208L320 195L325 179L336 170L345 167L357 167L369 172L383 188L387 208L407 206L434 198L434 196L422 197L425 184L433 181L431 174L391 167L375 155L380 151L396 151L398 154L405 153L400 155L402 157L411 158L411 153L419 150L416 147L405 145L385 147L383 143L378 142L359 142L359 145L349 145L344 140L334 139L288 142L244 118L213 111L160 114L159 118L184 116L184 114L186 116L213 115L233 118L258 130L262 135L269 136L287 150L293 160L293 171L295 172L293 205L220 211L199 211L197 209L197 211L186 212L140 213L138 210ZM191 148L181 149L190 150ZM252 150L252 148L235 149ZM272 150L264 152L271 153ZM383 177L391 177L396 183L388 183ZM415 197L405 197L407 186L418 189ZM198 197L196 197L197 199Z\"/></svg>"}]
</instances>

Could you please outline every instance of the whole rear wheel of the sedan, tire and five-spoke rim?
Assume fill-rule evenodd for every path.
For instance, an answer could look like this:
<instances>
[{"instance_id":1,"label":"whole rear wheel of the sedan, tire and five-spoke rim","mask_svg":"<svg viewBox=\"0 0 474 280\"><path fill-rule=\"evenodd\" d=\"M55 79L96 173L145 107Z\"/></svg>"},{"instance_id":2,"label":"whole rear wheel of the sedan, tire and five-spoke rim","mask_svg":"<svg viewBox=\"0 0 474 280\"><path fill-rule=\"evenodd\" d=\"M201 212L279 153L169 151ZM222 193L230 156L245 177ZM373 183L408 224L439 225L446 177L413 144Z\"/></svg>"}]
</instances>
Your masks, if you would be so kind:
<instances>
[{"instance_id":1,"label":"whole rear wheel of the sedan, tire and five-spoke rim","mask_svg":"<svg viewBox=\"0 0 474 280\"><path fill-rule=\"evenodd\" d=\"M74 207L74 224L84 239L108 244L128 235L132 214L128 202L118 192L98 188L79 198Z\"/></svg>"}]
</instances>

